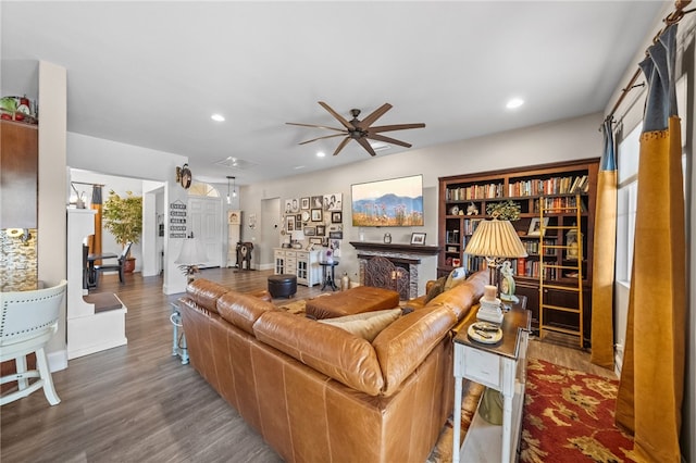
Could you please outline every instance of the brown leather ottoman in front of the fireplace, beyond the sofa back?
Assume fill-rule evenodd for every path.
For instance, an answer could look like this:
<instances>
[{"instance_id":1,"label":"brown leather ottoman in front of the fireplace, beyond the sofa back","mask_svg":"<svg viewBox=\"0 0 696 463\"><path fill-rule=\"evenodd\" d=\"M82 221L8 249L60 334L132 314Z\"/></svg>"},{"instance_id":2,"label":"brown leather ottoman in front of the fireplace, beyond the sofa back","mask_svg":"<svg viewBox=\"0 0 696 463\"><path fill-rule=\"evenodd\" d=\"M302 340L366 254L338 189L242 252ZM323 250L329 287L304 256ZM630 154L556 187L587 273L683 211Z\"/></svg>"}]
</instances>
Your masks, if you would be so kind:
<instances>
[{"instance_id":1,"label":"brown leather ottoman in front of the fireplace, beyond the sofa back","mask_svg":"<svg viewBox=\"0 0 696 463\"><path fill-rule=\"evenodd\" d=\"M336 295L307 301L307 314L316 320L335 318L357 313L394 309L399 305L399 293L390 289L358 286Z\"/></svg>"}]
</instances>

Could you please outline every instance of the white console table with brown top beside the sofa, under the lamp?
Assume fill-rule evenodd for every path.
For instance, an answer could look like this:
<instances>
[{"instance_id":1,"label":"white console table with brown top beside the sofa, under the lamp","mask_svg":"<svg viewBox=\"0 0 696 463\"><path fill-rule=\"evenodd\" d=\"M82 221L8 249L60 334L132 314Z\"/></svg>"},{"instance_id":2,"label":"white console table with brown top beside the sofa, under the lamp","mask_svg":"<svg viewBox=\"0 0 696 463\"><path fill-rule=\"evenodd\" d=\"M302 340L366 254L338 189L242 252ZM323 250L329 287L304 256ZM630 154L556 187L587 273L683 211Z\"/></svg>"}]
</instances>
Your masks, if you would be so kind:
<instances>
[{"instance_id":1,"label":"white console table with brown top beside the sofa, under the lamp","mask_svg":"<svg viewBox=\"0 0 696 463\"><path fill-rule=\"evenodd\" d=\"M455 337L452 463L460 460L478 463L515 461L524 404L531 322L530 311L513 308L505 315L502 339L499 342L485 345L469 339L467 329L471 323L464 324ZM502 426L487 423L476 411L460 448L463 378L502 392L504 405Z\"/></svg>"}]
</instances>

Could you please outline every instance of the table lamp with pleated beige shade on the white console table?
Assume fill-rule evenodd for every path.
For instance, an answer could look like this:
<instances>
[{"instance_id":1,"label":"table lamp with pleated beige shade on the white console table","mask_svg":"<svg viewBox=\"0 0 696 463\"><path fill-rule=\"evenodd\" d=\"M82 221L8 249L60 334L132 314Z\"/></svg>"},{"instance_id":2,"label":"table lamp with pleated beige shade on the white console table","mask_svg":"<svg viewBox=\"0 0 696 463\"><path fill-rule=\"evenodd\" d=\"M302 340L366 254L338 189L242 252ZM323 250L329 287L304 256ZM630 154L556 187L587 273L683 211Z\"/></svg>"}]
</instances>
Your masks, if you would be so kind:
<instances>
[{"instance_id":1,"label":"table lamp with pleated beige shade on the white console table","mask_svg":"<svg viewBox=\"0 0 696 463\"><path fill-rule=\"evenodd\" d=\"M492 323L502 323L502 311L500 310L500 299L497 296L495 286L495 275L498 266L506 259L526 258L526 249L518 237L510 221L481 221L474 230L467 248L467 254L482 255L486 258L490 278L486 285L484 296L481 298L481 308L476 318Z\"/></svg>"}]
</instances>

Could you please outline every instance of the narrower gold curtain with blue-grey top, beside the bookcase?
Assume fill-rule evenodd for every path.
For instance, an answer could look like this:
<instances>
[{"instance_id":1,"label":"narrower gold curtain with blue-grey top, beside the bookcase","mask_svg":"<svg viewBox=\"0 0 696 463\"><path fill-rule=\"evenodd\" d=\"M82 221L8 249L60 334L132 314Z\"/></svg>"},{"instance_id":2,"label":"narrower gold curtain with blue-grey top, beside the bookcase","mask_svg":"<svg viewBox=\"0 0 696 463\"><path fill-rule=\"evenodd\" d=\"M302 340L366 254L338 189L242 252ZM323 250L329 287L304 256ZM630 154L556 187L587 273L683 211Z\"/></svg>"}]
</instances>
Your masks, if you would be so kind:
<instances>
[{"instance_id":1,"label":"narrower gold curtain with blue-grey top, beside the bookcase","mask_svg":"<svg viewBox=\"0 0 696 463\"><path fill-rule=\"evenodd\" d=\"M604 124L605 148L597 177L592 267L592 363L613 368L613 270L617 252L617 159L611 118Z\"/></svg>"}]
</instances>

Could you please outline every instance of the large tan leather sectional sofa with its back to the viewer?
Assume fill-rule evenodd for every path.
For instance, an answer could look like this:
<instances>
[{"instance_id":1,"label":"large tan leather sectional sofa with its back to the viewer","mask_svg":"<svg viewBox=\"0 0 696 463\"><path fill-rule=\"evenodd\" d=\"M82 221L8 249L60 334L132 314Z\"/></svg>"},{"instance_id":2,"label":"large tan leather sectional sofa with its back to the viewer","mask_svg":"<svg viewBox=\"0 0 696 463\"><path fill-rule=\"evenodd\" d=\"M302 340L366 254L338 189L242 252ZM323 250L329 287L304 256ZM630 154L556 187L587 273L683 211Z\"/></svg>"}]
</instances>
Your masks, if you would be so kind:
<instances>
[{"instance_id":1,"label":"large tan leather sectional sofa with its back to the viewer","mask_svg":"<svg viewBox=\"0 0 696 463\"><path fill-rule=\"evenodd\" d=\"M192 366L288 462L423 462L451 413L452 328L487 273L372 343L262 295L197 279L181 299Z\"/></svg>"}]
</instances>

